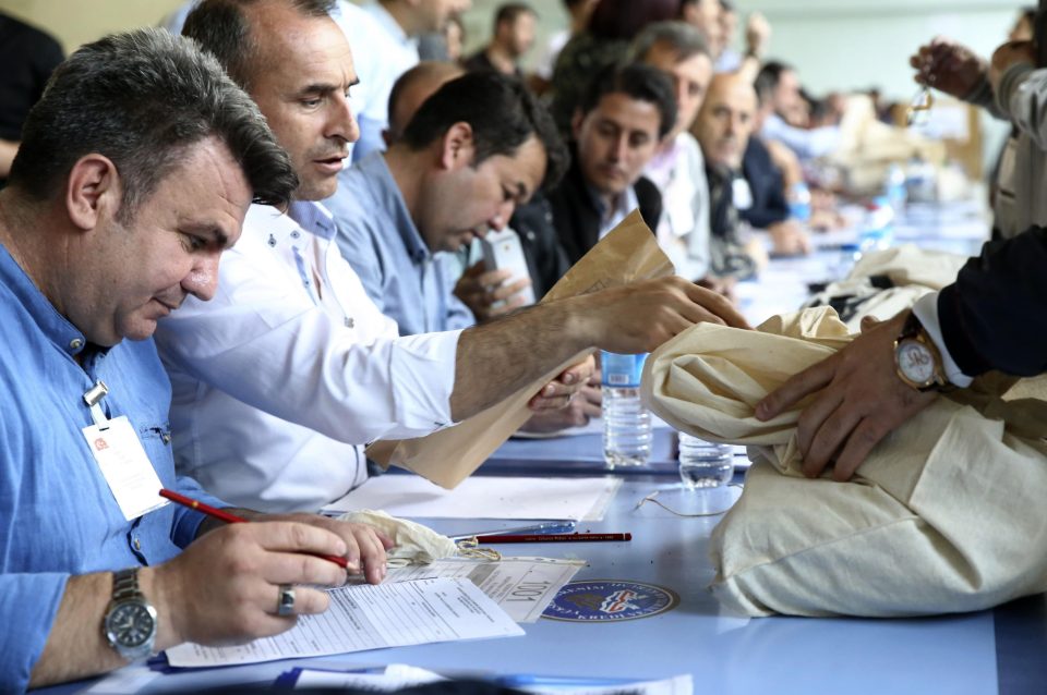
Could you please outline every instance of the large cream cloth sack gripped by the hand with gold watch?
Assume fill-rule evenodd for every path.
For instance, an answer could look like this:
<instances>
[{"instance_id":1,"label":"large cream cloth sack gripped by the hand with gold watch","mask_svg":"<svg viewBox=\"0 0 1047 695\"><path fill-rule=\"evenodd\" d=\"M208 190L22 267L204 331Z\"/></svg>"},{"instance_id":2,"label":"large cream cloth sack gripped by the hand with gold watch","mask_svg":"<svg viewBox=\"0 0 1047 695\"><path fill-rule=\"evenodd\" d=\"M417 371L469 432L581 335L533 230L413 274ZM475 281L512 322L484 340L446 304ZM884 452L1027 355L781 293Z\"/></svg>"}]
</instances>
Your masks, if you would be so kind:
<instances>
[{"instance_id":1,"label":"large cream cloth sack gripped by the hand with gold watch","mask_svg":"<svg viewBox=\"0 0 1047 695\"><path fill-rule=\"evenodd\" d=\"M939 398L847 483L799 473L802 406L754 407L846 344L829 308L757 331L699 325L647 361L664 420L747 443L742 498L713 531L712 592L749 615L914 615L977 610L1047 589L1047 388L997 376ZM960 399L965 402L959 402Z\"/></svg>"}]
</instances>

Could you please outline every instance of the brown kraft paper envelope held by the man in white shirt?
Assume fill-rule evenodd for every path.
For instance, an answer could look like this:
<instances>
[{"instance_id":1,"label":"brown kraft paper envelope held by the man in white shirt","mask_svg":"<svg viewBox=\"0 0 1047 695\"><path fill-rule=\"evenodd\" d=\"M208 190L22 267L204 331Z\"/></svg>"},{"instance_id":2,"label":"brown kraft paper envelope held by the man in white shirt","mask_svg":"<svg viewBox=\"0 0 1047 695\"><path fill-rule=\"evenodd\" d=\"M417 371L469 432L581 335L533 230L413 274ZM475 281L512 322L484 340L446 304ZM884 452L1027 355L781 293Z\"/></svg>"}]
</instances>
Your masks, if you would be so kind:
<instances>
[{"instance_id":1,"label":"brown kraft paper envelope held by the man in white shirt","mask_svg":"<svg viewBox=\"0 0 1047 695\"><path fill-rule=\"evenodd\" d=\"M634 210L582 256L542 302L577 296L637 280L674 273L654 234ZM454 427L417 439L383 440L368 447L368 456L384 468L397 465L452 489L486 461L530 417L527 403L543 386L590 351L583 351L534 379L513 395Z\"/></svg>"}]
</instances>

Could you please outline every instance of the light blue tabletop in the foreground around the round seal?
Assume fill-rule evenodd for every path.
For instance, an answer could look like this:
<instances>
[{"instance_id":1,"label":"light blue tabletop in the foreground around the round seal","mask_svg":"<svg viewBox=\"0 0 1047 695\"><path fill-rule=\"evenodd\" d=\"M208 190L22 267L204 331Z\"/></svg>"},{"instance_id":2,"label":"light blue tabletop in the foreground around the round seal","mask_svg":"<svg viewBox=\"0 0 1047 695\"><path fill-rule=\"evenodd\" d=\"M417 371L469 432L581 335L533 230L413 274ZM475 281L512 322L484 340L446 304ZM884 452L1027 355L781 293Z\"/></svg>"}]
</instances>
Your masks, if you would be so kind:
<instances>
[{"instance_id":1,"label":"light blue tabletop in the foreground around the round seal","mask_svg":"<svg viewBox=\"0 0 1047 695\"><path fill-rule=\"evenodd\" d=\"M556 448L557 444L546 442ZM551 475L559 462L533 462ZM497 465L490 472L497 473ZM481 470L488 473L488 466ZM762 618L720 614L706 586L713 575L709 533L719 516L682 519L655 507L636 509L645 496L681 512L719 511L739 493L681 489L660 474L634 474L606 517L579 531L633 533L631 542L519 545L513 554L588 561L576 580L633 580L675 592L679 605L648 619L618 623L541 620L526 636L398 647L359 654L183 671L165 674L142 692L190 692L230 682L272 682L293 666L353 668L409 663L447 674L660 679L694 676L697 693L1043 693L1047 684L1047 621L1043 596L995 611L914 620ZM422 520L426 521L426 520ZM509 522L429 520L448 534ZM492 525L493 524L493 525ZM71 684L52 692L77 692Z\"/></svg>"}]
</instances>

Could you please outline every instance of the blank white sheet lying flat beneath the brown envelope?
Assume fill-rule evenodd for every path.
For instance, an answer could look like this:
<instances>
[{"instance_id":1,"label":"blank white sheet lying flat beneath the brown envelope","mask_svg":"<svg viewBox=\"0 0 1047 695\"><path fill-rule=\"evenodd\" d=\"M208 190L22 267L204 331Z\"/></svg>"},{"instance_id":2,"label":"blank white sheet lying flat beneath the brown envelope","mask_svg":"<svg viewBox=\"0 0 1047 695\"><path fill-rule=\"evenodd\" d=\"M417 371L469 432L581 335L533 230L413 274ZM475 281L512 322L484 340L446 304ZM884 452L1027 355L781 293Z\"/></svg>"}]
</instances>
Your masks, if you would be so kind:
<instances>
[{"instance_id":1,"label":"blank white sheet lying flat beneath the brown envelope","mask_svg":"<svg viewBox=\"0 0 1047 695\"><path fill-rule=\"evenodd\" d=\"M445 490L418 475L381 475L324 509L381 509L407 519L573 519L600 521L622 478L476 476Z\"/></svg>"}]
</instances>

